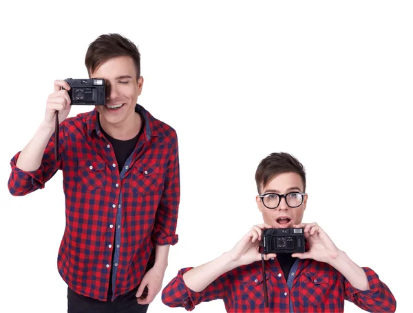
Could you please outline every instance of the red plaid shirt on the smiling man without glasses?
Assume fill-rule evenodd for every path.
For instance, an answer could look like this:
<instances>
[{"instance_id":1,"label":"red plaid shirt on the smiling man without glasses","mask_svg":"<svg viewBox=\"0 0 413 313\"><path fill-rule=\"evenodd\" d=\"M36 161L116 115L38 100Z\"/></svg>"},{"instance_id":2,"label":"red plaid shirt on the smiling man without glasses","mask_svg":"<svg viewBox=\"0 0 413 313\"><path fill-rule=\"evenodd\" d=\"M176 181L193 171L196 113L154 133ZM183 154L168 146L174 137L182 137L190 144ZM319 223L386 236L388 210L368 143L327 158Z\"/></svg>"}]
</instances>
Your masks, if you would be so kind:
<instances>
[{"instance_id":1,"label":"red plaid shirt on the smiling man without glasses","mask_svg":"<svg viewBox=\"0 0 413 313\"><path fill-rule=\"evenodd\" d=\"M100 132L96 109L60 124L61 161L54 157L54 135L39 170L19 170L20 152L11 161L8 187L15 196L43 188L57 170L63 171L66 227L59 273L78 294L102 301L107 299L112 266L114 299L138 286L155 244L178 242L176 132L138 104L136 112L145 121L143 135L120 173L114 149Z\"/></svg>"}]
</instances>

